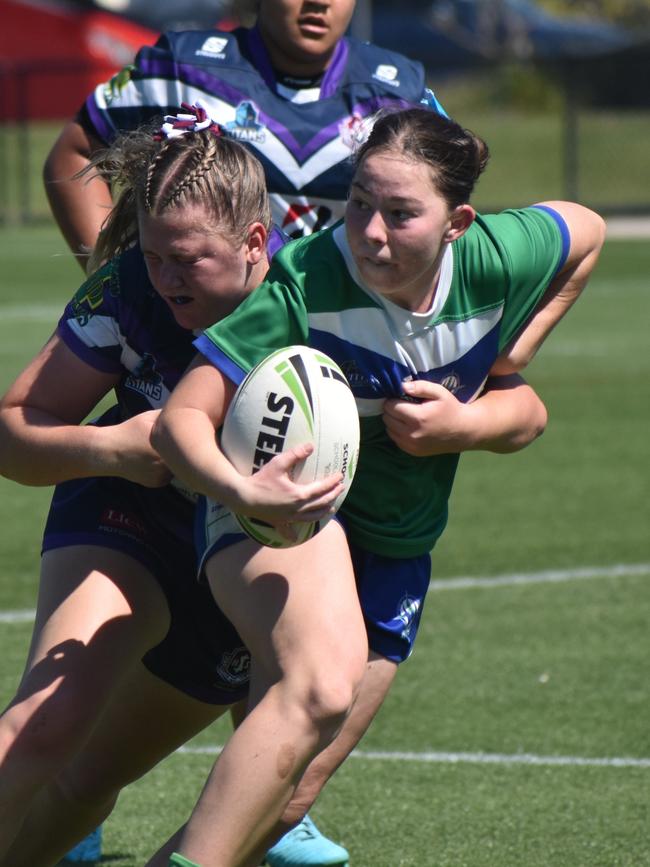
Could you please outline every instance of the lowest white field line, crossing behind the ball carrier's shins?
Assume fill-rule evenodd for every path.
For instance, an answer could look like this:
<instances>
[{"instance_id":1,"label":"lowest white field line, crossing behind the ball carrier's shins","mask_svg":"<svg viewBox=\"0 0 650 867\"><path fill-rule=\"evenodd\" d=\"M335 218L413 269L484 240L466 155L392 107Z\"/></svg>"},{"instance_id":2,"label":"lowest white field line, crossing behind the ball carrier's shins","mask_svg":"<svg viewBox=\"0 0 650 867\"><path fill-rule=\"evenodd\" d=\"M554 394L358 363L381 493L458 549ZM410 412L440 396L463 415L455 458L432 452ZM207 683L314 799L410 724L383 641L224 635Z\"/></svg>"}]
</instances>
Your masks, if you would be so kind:
<instances>
[{"instance_id":1,"label":"lowest white field line, crossing behind the ball carrier's shins","mask_svg":"<svg viewBox=\"0 0 650 867\"><path fill-rule=\"evenodd\" d=\"M180 747L178 753L193 756L216 756L222 746ZM351 759L367 762L417 762L418 764L470 764L470 765L540 765L586 768L650 768L650 759L589 758L585 756L537 756L532 753L445 753L394 752L392 750L353 750Z\"/></svg>"}]
</instances>

